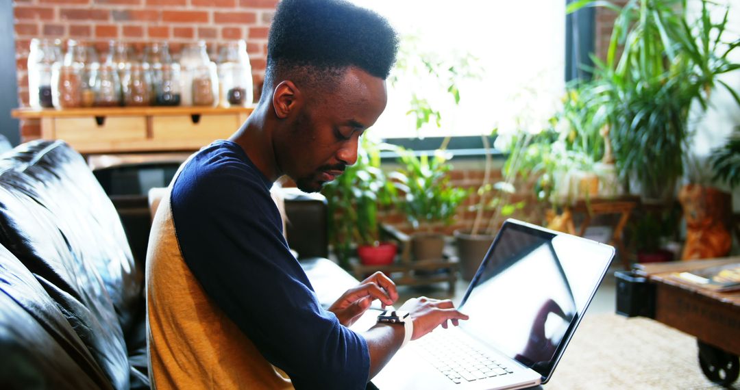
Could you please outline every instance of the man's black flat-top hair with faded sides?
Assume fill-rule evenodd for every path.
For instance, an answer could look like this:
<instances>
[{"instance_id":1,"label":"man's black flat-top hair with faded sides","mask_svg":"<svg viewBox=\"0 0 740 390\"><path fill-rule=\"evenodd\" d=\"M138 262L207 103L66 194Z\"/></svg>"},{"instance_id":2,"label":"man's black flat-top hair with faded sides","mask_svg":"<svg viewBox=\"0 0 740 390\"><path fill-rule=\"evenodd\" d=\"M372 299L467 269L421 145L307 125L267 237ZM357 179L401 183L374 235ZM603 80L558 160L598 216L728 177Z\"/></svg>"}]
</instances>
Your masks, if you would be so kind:
<instances>
[{"instance_id":1,"label":"man's black flat-top hair with faded sides","mask_svg":"<svg viewBox=\"0 0 740 390\"><path fill-rule=\"evenodd\" d=\"M331 84L349 66L385 80L397 51L396 31L371 10L343 0L283 0L270 28L265 86L278 78Z\"/></svg>"}]
</instances>

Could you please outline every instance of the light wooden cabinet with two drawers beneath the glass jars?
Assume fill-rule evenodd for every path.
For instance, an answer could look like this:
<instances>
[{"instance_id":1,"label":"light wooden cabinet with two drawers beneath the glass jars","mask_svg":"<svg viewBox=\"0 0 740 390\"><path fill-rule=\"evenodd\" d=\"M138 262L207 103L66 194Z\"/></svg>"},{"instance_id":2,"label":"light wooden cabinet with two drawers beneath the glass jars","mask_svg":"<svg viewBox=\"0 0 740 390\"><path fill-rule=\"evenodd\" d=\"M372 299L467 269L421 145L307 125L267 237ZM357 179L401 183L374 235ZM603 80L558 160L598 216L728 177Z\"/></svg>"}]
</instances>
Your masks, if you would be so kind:
<instances>
[{"instance_id":1,"label":"light wooden cabinet with two drawers beneath the glass jars","mask_svg":"<svg viewBox=\"0 0 740 390\"><path fill-rule=\"evenodd\" d=\"M41 137L65 140L83 154L195 151L228 138L252 108L116 107L16 109L13 117L40 119Z\"/></svg>"}]
</instances>

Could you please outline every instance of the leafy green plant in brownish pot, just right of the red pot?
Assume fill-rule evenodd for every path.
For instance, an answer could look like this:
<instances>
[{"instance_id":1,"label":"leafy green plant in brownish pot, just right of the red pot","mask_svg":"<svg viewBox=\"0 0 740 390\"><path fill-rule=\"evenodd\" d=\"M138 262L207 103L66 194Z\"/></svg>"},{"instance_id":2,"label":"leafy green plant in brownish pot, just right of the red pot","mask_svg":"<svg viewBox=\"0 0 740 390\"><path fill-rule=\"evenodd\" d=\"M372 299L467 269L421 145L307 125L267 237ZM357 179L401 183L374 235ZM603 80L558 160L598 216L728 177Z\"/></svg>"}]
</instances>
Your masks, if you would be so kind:
<instances>
[{"instance_id":1,"label":"leafy green plant in brownish pot, just right of the red pot","mask_svg":"<svg viewBox=\"0 0 740 390\"><path fill-rule=\"evenodd\" d=\"M414 259L442 259L444 235L435 227L451 224L468 191L450 184L447 173L452 167L443 151L417 157L414 151L398 148L398 154L401 168L388 176L399 192L397 205L415 230L411 235Z\"/></svg>"}]
</instances>

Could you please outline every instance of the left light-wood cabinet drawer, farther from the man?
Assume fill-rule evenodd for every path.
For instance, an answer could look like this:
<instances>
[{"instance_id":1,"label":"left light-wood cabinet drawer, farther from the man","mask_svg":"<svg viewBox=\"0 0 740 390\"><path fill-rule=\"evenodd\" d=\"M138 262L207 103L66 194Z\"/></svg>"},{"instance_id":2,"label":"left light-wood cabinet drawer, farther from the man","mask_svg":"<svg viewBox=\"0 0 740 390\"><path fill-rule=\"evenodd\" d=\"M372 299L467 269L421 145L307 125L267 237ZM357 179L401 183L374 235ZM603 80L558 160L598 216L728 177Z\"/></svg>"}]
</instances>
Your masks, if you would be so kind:
<instances>
[{"instance_id":1,"label":"left light-wood cabinet drawer, farther from the man","mask_svg":"<svg viewBox=\"0 0 740 390\"><path fill-rule=\"evenodd\" d=\"M147 117L59 117L54 137L70 145L147 139Z\"/></svg>"}]
</instances>

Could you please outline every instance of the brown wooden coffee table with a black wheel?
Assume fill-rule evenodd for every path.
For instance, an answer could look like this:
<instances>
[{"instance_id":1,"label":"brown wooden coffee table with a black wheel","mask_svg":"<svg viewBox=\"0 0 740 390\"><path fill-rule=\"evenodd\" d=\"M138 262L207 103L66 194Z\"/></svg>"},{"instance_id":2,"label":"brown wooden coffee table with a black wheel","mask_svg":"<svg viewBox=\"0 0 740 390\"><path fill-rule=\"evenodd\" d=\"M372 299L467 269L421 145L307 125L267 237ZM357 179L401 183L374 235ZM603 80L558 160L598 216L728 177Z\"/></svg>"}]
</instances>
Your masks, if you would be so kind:
<instances>
[{"instance_id":1,"label":"brown wooden coffee table with a black wheel","mask_svg":"<svg viewBox=\"0 0 740 390\"><path fill-rule=\"evenodd\" d=\"M655 319L696 337L707 378L733 383L740 371L740 291L715 292L676 273L740 262L740 256L670 263L636 264L634 272L655 286Z\"/></svg>"}]
</instances>

